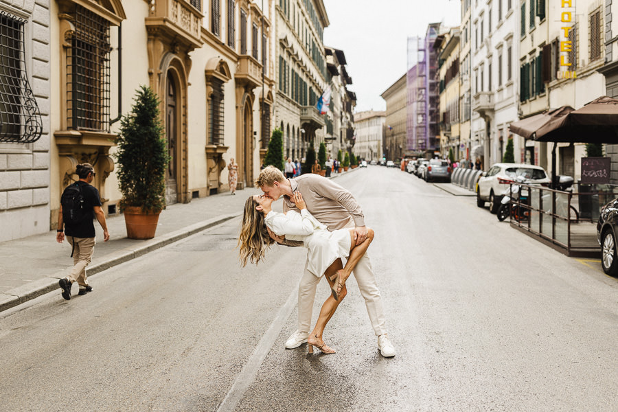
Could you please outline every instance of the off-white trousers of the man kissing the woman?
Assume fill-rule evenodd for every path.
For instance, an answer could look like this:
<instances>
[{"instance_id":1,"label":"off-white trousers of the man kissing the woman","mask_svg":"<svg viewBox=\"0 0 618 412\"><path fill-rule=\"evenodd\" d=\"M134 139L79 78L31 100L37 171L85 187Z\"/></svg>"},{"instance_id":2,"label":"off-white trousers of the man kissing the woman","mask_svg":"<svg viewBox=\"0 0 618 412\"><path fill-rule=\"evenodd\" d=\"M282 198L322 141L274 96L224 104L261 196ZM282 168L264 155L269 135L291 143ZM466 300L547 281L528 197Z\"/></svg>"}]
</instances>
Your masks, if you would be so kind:
<instances>
[{"instance_id":1,"label":"off-white trousers of the man kissing the woman","mask_svg":"<svg viewBox=\"0 0 618 412\"><path fill-rule=\"evenodd\" d=\"M354 225L352 225L354 228ZM307 270L308 260L305 263L303 277L301 277L300 286L298 288L298 330L301 332L311 331L311 317L313 312L313 302L315 300L315 290L322 277L316 277ZM371 261L367 253L363 255L361 260L358 260L352 275L358 284L358 290L361 291L361 296L365 298L365 306L369 314L369 321L374 328L376 336L385 334L386 321L384 317L384 307L382 306L382 298L380 290L376 283L376 277L371 270Z\"/></svg>"}]
</instances>

